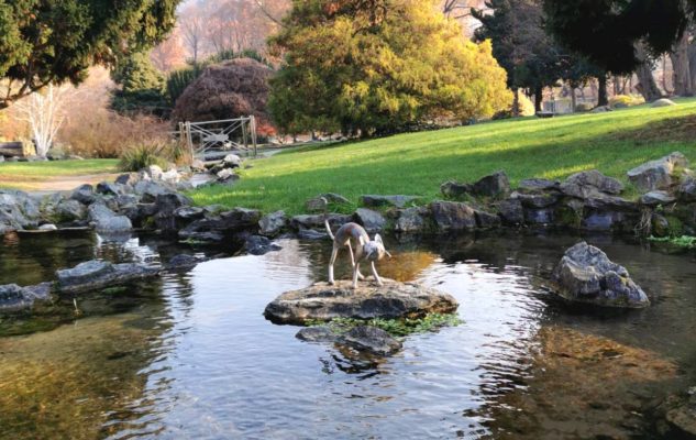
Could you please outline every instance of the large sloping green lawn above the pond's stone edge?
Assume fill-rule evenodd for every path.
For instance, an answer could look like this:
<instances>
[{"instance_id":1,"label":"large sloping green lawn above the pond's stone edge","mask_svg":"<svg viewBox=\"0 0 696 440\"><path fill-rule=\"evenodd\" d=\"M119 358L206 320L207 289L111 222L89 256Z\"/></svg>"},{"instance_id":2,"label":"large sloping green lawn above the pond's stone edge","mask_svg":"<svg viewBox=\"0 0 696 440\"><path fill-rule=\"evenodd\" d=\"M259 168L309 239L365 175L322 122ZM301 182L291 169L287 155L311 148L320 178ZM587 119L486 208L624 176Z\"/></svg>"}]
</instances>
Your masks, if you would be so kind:
<instances>
[{"instance_id":1,"label":"large sloping green lawn above the pond's stone edge","mask_svg":"<svg viewBox=\"0 0 696 440\"><path fill-rule=\"evenodd\" d=\"M599 169L627 183L626 172L673 151L696 163L696 100L607 113L495 121L364 142L310 146L254 161L231 187L192 191L198 205L303 211L307 199L338 193L440 198L449 179L473 182L498 169L523 178L562 179ZM636 191L629 186L629 195Z\"/></svg>"}]
</instances>

